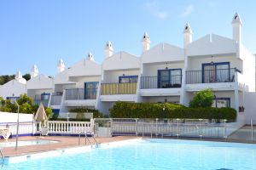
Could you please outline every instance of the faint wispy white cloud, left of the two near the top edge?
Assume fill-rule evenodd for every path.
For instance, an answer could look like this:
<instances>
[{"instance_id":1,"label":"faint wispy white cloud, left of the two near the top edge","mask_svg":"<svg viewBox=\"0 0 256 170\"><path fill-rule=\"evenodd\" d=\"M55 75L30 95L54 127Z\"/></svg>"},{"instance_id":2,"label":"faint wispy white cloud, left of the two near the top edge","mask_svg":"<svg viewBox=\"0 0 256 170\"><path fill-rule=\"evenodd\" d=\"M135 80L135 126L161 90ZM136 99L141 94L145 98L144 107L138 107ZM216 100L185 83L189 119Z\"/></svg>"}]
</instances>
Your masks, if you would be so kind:
<instances>
[{"instance_id":1,"label":"faint wispy white cloud, left of the two near the top edge","mask_svg":"<svg viewBox=\"0 0 256 170\"><path fill-rule=\"evenodd\" d=\"M160 4L157 1L151 1L148 3L144 3L143 7L146 8L149 14L152 14L154 17L164 20L169 14L160 8Z\"/></svg>"}]
</instances>

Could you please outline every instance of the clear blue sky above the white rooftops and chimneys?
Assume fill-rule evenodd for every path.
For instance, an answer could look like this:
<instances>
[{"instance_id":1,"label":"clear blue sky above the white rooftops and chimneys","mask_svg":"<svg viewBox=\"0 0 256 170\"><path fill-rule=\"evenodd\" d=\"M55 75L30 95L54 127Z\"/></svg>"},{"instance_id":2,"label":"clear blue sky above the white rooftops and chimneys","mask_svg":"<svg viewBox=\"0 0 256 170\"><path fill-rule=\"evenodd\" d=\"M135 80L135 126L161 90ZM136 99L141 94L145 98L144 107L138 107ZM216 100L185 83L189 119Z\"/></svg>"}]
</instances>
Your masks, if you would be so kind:
<instances>
[{"instance_id":1,"label":"clear blue sky above the white rooftops and chimneys","mask_svg":"<svg viewBox=\"0 0 256 170\"><path fill-rule=\"evenodd\" d=\"M70 66L94 55L103 59L109 40L114 52L141 54L144 31L151 47L160 42L183 46L189 22L193 40L208 33L232 36L231 20L243 22L242 42L256 53L256 10L253 0L8 0L0 1L0 75L29 72L54 76L58 59Z\"/></svg>"}]
</instances>

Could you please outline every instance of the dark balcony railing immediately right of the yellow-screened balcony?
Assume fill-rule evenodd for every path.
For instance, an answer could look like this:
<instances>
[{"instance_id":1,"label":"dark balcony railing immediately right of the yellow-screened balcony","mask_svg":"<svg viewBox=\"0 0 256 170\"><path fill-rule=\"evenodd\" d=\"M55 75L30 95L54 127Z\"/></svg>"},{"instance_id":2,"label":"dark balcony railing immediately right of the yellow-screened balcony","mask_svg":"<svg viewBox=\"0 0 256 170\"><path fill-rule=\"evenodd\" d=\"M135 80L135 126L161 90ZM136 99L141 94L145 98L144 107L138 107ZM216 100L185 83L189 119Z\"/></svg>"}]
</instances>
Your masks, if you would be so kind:
<instances>
[{"instance_id":1,"label":"dark balcony railing immediately right of the yellow-screened balcony","mask_svg":"<svg viewBox=\"0 0 256 170\"><path fill-rule=\"evenodd\" d=\"M141 89L148 88L181 88L182 75L170 77L141 77Z\"/></svg>"}]
</instances>

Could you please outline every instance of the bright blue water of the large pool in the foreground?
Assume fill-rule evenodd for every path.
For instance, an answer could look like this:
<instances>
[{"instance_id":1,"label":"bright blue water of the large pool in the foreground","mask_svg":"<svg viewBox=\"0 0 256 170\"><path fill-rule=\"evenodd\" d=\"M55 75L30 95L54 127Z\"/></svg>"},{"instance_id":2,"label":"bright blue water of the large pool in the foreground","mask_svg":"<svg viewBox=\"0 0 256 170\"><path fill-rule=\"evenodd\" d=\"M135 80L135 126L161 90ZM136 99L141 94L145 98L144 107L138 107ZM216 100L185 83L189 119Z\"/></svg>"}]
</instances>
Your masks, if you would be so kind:
<instances>
[{"instance_id":1,"label":"bright blue water of the large pool in the foreground","mask_svg":"<svg viewBox=\"0 0 256 170\"><path fill-rule=\"evenodd\" d=\"M78 150L78 149L77 149ZM98 148L59 151L26 161L5 163L10 169L96 170L255 170L256 144L234 144L176 139L141 139Z\"/></svg>"}]
</instances>

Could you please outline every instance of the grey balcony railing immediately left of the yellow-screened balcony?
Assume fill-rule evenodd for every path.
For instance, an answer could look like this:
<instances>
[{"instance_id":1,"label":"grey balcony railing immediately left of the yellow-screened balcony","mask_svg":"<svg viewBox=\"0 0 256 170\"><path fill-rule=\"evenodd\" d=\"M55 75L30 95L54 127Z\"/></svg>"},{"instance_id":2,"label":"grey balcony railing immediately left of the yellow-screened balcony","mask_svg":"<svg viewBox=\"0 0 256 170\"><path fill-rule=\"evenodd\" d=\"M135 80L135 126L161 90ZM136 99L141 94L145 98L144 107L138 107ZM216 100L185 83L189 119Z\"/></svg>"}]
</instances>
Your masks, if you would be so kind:
<instances>
[{"instance_id":1,"label":"grey balcony railing immediately left of the yellow-screened balcony","mask_svg":"<svg viewBox=\"0 0 256 170\"><path fill-rule=\"evenodd\" d=\"M66 100L96 99L97 88L73 88L66 89Z\"/></svg>"}]
</instances>

